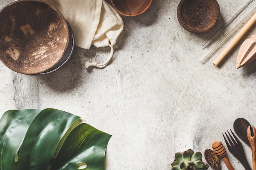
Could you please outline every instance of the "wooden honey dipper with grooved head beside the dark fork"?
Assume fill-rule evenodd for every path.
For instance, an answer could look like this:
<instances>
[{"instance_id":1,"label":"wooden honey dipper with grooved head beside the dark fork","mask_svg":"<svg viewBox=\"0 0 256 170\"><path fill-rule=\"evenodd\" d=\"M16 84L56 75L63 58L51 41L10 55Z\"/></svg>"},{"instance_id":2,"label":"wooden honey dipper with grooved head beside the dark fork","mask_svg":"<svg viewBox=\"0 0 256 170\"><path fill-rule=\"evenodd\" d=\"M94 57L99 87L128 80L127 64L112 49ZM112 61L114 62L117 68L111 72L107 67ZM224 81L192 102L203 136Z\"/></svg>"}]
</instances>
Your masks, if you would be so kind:
<instances>
[{"instance_id":1,"label":"wooden honey dipper with grooved head beside the dark fork","mask_svg":"<svg viewBox=\"0 0 256 170\"><path fill-rule=\"evenodd\" d=\"M219 157L221 157L223 159L223 161L225 162L227 168L229 170L234 170L233 166L229 162L229 159L227 158L226 150L225 150L223 144L221 143L221 141L214 142L211 145L211 147L213 148L213 151L216 153L216 155L218 155Z\"/></svg>"}]
</instances>

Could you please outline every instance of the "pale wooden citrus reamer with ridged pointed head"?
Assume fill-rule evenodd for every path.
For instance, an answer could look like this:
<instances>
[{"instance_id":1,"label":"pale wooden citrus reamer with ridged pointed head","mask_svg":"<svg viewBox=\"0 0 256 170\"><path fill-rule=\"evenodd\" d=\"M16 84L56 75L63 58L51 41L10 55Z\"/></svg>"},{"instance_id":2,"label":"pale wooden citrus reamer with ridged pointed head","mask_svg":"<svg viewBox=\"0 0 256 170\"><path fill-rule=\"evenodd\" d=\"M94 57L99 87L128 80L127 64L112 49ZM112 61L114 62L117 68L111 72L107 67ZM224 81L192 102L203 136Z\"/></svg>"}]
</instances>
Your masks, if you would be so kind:
<instances>
[{"instance_id":1,"label":"pale wooden citrus reamer with ridged pointed head","mask_svg":"<svg viewBox=\"0 0 256 170\"><path fill-rule=\"evenodd\" d=\"M246 39L240 46L236 59L236 69L245 66L256 59L256 35Z\"/></svg>"}]
</instances>

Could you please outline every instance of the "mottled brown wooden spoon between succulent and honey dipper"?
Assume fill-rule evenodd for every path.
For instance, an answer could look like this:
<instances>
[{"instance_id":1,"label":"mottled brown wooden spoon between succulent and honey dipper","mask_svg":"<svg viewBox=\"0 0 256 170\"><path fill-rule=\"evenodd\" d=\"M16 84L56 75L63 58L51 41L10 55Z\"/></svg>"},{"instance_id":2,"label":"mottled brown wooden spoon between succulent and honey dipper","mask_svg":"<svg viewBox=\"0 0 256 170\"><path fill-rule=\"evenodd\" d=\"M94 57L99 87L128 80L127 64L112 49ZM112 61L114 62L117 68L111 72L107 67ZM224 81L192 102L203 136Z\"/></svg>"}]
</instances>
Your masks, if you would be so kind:
<instances>
[{"instance_id":1,"label":"mottled brown wooden spoon between succulent and honey dipper","mask_svg":"<svg viewBox=\"0 0 256 170\"><path fill-rule=\"evenodd\" d=\"M213 169L220 170L220 159L213 150L206 149L204 151L204 158Z\"/></svg>"}]
</instances>

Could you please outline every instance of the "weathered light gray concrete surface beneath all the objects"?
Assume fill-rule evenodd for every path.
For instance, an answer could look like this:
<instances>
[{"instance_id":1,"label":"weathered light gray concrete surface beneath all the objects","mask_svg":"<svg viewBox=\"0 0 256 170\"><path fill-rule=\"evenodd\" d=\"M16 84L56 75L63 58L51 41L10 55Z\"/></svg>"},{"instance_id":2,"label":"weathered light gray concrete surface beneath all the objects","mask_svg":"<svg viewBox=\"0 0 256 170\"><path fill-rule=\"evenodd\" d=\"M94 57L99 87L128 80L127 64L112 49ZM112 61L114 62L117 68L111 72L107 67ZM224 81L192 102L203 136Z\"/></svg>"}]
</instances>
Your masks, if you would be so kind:
<instances>
[{"instance_id":1,"label":"weathered light gray concrete surface beneath all the objects","mask_svg":"<svg viewBox=\"0 0 256 170\"><path fill-rule=\"evenodd\" d=\"M10 2L2 0L0 7ZM224 20L244 4L218 2ZM212 64L216 55L201 63L210 33L184 30L178 4L153 0L142 15L121 16L125 27L106 68L85 68L85 61L102 62L109 51L94 46L76 47L70 61L49 75L22 75L0 62L0 115L56 108L81 116L112 135L106 170L170 170L175 152L203 153L217 140L226 147L222 133L233 129L235 119L256 125L256 62L236 70L238 43L219 67ZM255 33L253 26L242 40ZM243 146L252 166L251 150ZM243 169L227 154L236 170ZM227 170L222 160L221 167Z\"/></svg>"}]
</instances>

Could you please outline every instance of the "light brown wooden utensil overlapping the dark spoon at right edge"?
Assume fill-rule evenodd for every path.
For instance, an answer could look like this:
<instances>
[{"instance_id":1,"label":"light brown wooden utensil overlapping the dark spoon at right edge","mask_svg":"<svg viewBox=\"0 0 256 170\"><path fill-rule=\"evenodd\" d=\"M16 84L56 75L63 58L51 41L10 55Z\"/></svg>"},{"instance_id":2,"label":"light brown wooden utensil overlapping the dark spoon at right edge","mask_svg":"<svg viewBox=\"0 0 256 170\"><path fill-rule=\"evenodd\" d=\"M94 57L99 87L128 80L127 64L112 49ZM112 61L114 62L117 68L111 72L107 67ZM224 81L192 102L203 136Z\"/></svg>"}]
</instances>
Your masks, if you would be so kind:
<instances>
[{"instance_id":1,"label":"light brown wooden utensil overlapping the dark spoon at right edge","mask_svg":"<svg viewBox=\"0 0 256 170\"><path fill-rule=\"evenodd\" d=\"M254 128L254 126L248 126L247 137L252 148L252 170L256 170L256 129Z\"/></svg>"}]
</instances>

